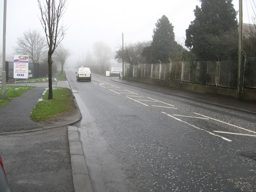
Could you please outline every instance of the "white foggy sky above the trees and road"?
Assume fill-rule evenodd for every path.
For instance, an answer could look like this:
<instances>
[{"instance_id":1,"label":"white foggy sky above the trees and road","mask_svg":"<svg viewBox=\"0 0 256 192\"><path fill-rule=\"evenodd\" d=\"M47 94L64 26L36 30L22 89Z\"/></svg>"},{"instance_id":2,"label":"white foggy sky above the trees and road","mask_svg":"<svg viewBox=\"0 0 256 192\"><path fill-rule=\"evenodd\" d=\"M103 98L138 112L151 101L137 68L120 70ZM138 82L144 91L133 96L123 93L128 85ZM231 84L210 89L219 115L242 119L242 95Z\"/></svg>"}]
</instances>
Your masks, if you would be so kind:
<instances>
[{"instance_id":1,"label":"white foggy sky above the trees and road","mask_svg":"<svg viewBox=\"0 0 256 192\"><path fill-rule=\"evenodd\" d=\"M243 0L243 21L253 23L252 0ZM238 0L233 0L234 8L239 10ZM92 53L95 42L104 42L114 51L118 44L152 40L155 23L165 14L172 25L176 40L184 45L185 30L194 20L196 5L199 0L68 0L63 23L67 26L64 47L72 52L67 63L82 60L88 51ZM0 46L2 46L4 0L0 2ZM254 7L255 9L255 7ZM248 10L248 11L247 11ZM17 37L28 30L38 29L40 11L37 0L7 0L6 20L6 60L13 60L12 47L16 46ZM1 50L2 51L2 50Z\"/></svg>"}]
</instances>

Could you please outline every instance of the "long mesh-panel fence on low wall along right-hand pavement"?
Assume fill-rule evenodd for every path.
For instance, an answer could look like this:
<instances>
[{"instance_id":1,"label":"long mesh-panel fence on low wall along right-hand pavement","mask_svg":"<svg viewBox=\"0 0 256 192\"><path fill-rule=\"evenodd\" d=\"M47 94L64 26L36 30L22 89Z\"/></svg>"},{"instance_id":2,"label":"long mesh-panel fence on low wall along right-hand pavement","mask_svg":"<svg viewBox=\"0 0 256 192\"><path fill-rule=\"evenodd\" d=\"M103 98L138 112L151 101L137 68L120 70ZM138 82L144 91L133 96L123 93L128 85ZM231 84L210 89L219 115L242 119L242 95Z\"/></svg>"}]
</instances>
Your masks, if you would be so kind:
<instances>
[{"instance_id":1,"label":"long mesh-panel fence on low wall along right-hand pavement","mask_svg":"<svg viewBox=\"0 0 256 192\"><path fill-rule=\"evenodd\" d=\"M125 76L237 88L238 62L171 62L125 65ZM256 58L244 64L243 86L256 88Z\"/></svg>"}]
</instances>

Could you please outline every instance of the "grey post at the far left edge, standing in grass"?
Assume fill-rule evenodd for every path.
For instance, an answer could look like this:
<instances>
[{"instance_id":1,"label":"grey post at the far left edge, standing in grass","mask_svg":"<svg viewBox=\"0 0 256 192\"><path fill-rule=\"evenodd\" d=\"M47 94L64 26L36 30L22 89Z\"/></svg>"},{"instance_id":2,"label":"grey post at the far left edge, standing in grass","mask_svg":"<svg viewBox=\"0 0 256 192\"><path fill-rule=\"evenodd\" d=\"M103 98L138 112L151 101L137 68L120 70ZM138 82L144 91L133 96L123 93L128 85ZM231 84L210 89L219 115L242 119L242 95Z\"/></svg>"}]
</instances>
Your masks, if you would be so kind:
<instances>
[{"instance_id":1,"label":"grey post at the far left edge, standing in grass","mask_svg":"<svg viewBox=\"0 0 256 192\"><path fill-rule=\"evenodd\" d=\"M5 46L6 46L6 4L4 0L4 25L3 25L3 62L2 62L2 100L6 99L6 69L5 69Z\"/></svg>"}]
</instances>

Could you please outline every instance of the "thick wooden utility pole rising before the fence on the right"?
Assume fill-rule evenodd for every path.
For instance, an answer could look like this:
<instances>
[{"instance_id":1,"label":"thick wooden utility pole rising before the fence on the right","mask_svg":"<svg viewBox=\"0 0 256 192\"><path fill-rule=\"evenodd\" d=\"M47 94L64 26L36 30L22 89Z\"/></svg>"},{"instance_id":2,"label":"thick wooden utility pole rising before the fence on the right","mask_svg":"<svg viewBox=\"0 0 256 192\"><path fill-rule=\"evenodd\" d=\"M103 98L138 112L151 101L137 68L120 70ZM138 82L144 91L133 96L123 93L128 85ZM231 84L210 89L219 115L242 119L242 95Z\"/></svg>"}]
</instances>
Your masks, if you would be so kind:
<instances>
[{"instance_id":1,"label":"thick wooden utility pole rising before the fence on the right","mask_svg":"<svg viewBox=\"0 0 256 192\"><path fill-rule=\"evenodd\" d=\"M239 45L238 45L238 79L237 79L237 100L242 100L242 57L243 57L243 6L239 0Z\"/></svg>"}]
</instances>

